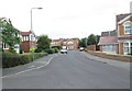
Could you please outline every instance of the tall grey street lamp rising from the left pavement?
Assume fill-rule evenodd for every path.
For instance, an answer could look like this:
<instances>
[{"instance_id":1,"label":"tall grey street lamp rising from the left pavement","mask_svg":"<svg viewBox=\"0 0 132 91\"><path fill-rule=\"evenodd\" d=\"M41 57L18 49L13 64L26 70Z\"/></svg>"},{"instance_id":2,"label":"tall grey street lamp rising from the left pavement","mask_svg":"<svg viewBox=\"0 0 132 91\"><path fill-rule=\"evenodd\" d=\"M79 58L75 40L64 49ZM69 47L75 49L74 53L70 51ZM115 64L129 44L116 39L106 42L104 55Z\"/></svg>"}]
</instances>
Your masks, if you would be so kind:
<instances>
[{"instance_id":1,"label":"tall grey street lamp rising from the left pavement","mask_svg":"<svg viewBox=\"0 0 132 91\"><path fill-rule=\"evenodd\" d=\"M33 48L34 48L34 47L33 47L33 37L34 37L33 35L34 35L34 34L33 34L33 24L32 24L32 10L33 10L33 9L41 10L41 9L43 9L43 8L31 8L31 32L32 32L32 36L31 36L31 44L32 44L32 45L31 45L31 46L32 46L32 58L33 58L33 60L34 60L34 50L33 50Z\"/></svg>"}]
</instances>

